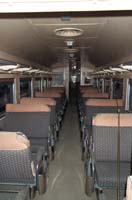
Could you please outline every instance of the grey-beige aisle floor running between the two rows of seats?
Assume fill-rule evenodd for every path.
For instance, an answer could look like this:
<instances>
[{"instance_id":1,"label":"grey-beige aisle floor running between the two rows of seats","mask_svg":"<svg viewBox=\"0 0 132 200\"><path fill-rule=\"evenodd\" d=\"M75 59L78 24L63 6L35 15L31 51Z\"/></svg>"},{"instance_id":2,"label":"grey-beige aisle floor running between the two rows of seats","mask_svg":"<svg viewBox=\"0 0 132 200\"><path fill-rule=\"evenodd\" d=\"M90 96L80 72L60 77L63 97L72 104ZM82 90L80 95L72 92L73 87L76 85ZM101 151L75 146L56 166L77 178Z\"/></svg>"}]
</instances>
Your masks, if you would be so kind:
<instances>
[{"instance_id":1,"label":"grey-beige aisle floor running between the two rows of seats","mask_svg":"<svg viewBox=\"0 0 132 200\"><path fill-rule=\"evenodd\" d=\"M77 110L69 105L55 160L50 163L47 192L37 200L89 200L84 193L83 168Z\"/></svg>"}]
</instances>

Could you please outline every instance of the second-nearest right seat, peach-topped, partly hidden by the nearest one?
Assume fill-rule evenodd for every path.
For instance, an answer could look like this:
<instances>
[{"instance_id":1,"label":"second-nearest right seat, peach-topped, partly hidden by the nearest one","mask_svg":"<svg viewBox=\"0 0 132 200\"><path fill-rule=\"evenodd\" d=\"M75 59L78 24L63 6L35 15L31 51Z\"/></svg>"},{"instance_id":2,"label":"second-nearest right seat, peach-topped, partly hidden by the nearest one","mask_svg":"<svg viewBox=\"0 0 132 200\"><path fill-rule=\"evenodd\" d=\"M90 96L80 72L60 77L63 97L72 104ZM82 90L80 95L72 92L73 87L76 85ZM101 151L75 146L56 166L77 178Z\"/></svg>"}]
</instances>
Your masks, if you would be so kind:
<instances>
[{"instance_id":1,"label":"second-nearest right seat, peach-topped, partly hidden by the nearest one","mask_svg":"<svg viewBox=\"0 0 132 200\"><path fill-rule=\"evenodd\" d=\"M117 113L118 109L124 112L123 100L88 99L85 102L85 117L81 123L82 146L85 152L89 153L93 117L98 113Z\"/></svg>"}]
</instances>

